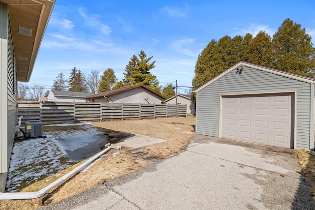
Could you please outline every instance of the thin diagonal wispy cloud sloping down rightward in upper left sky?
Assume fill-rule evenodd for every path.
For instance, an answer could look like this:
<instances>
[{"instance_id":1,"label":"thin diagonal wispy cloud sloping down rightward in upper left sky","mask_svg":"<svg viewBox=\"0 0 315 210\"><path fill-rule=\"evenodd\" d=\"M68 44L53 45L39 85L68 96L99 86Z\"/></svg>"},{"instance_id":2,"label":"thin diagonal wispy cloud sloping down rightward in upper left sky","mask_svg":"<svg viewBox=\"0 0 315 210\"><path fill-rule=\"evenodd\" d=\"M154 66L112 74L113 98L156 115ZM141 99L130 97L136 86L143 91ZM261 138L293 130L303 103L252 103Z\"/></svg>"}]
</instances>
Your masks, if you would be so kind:
<instances>
[{"instance_id":1,"label":"thin diagonal wispy cloud sloping down rightward in upper left sky","mask_svg":"<svg viewBox=\"0 0 315 210\"><path fill-rule=\"evenodd\" d=\"M103 24L99 19L99 15L95 14L86 14L83 9L78 10L81 17L85 19L85 23L88 27L93 28L94 30L100 30L104 34L110 34L112 30L107 25Z\"/></svg>"}]
</instances>

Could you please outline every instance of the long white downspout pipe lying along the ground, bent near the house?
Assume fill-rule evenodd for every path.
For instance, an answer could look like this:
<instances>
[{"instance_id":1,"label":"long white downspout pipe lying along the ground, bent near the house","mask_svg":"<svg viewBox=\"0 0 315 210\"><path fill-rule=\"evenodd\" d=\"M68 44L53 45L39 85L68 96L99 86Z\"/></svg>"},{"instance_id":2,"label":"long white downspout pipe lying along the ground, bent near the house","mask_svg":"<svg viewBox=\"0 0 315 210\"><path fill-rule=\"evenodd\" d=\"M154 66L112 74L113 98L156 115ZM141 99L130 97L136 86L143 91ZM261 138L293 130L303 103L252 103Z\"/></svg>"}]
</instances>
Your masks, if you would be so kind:
<instances>
[{"instance_id":1,"label":"long white downspout pipe lying along the ground, bent near the house","mask_svg":"<svg viewBox=\"0 0 315 210\"><path fill-rule=\"evenodd\" d=\"M53 183L49 184L48 186L44 187L43 189L37 191L37 192L0 192L0 200L10 200L10 199L33 199L33 198L39 198L46 193L48 193L50 190L57 187L59 184L63 183L65 180L69 179L73 175L75 175L77 172L88 166L90 163L92 163L95 159L97 159L99 156L105 154L107 151L109 151L111 148L107 147L105 150L102 150L95 154L94 156L90 157L87 161L85 161L80 166L76 167L72 171L68 172L67 174L63 175L58 180L54 181Z\"/></svg>"}]
</instances>

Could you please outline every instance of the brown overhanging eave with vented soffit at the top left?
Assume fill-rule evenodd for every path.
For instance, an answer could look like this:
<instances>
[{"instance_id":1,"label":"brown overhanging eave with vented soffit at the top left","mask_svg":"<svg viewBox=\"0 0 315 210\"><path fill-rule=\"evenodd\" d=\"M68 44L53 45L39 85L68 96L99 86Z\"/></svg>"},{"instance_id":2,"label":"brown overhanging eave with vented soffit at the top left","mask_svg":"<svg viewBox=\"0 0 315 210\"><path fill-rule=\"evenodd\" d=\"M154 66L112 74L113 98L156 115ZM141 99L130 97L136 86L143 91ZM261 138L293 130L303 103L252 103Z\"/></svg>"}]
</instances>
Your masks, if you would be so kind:
<instances>
[{"instance_id":1,"label":"brown overhanging eave with vented soffit at the top left","mask_svg":"<svg viewBox=\"0 0 315 210\"><path fill-rule=\"evenodd\" d=\"M8 5L18 81L29 82L55 0L0 0Z\"/></svg>"}]
</instances>

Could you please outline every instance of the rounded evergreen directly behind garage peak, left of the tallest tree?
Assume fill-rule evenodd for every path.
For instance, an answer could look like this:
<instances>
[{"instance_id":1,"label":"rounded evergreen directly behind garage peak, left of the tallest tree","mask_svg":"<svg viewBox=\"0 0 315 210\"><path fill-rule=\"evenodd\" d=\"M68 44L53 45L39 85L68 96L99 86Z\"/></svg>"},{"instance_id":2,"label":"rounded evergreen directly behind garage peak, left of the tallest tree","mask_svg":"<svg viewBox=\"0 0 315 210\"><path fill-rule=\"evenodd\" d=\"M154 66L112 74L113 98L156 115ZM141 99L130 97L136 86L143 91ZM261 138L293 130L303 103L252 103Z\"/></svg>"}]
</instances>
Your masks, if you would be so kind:
<instances>
[{"instance_id":1,"label":"rounded evergreen directly behind garage peak, left of the tallest tree","mask_svg":"<svg viewBox=\"0 0 315 210\"><path fill-rule=\"evenodd\" d=\"M271 37L260 31L243 51L242 60L270 66L272 62Z\"/></svg>"}]
</instances>

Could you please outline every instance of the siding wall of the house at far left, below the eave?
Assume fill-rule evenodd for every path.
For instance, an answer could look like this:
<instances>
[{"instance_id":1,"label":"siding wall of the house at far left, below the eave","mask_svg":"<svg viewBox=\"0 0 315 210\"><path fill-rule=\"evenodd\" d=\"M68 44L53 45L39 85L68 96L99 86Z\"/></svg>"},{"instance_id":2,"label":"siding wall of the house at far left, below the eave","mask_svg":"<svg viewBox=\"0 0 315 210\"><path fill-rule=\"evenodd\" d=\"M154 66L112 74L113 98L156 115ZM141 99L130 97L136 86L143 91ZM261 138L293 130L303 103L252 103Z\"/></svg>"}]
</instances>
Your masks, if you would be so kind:
<instances>
[{"instance_id":1,"label":"siding wall of the house at far left, below the eave","mask_svg":"<svg viewBox=\"0 0 315 210\"><path fill-rule=\"evenodd\" d=\"M8 7L0 3L0 191L5 189L5 181L15 136L17 121L17 72Z\"/></svg>"}]
</instances>

